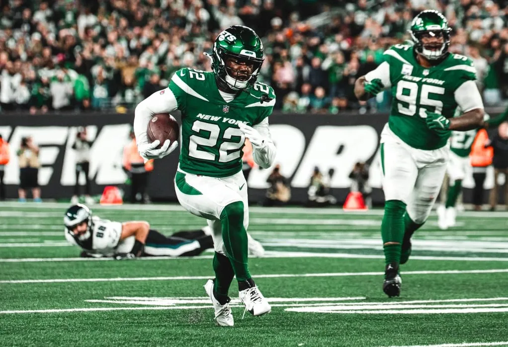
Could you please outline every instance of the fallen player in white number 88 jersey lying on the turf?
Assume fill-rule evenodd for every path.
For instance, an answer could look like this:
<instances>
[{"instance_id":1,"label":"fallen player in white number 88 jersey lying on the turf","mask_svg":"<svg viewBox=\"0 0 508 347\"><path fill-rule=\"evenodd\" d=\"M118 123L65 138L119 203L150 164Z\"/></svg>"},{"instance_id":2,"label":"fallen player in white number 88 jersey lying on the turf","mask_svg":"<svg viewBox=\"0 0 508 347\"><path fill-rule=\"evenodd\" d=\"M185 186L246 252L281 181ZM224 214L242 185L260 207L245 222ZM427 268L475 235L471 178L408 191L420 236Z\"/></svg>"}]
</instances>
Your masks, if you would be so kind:
<instances>
[{"instance_id":1,"label":"fallen player in white number 88 jersey lying on the turf","mask_svg":"<svg viewBox=\"0 0 508 347\"><path fill-rule=\"evenodd\" d=\"M182 230L165 236L150 229L146 221L115 222L92 216L86 205L69 207L63 217L65 237L82 249L81 257L113 257L117 260L136 257L192 257L213 248L209 227ZM263 246L248 235L249 254L262 257Z\"/></svg>"}]
</instances>

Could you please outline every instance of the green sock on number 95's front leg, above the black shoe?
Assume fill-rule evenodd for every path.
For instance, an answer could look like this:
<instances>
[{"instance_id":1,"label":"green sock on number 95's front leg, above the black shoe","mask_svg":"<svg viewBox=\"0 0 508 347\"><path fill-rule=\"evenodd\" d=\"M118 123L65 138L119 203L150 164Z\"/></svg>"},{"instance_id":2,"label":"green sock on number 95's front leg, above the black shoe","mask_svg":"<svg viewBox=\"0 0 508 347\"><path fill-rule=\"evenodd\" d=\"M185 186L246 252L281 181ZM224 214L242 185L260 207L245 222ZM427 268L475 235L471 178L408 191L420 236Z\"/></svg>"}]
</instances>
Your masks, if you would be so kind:
<instances>
[{"instance_id":1,"label":"green sock on number 95's front leg, above the black shoe","mask_svg":"<svg viewBox=\"0 0 508 347\"><path fill-rule=\"evenodd\" d=\"M385 202L385 215L381 223L381 237L383 238L383 250L385 262L399 263L402 239L404 237L404 211L406 204L400 200L388 200ZM387 242L396 244L385 245Z\"/></svg>"}]
</instances>

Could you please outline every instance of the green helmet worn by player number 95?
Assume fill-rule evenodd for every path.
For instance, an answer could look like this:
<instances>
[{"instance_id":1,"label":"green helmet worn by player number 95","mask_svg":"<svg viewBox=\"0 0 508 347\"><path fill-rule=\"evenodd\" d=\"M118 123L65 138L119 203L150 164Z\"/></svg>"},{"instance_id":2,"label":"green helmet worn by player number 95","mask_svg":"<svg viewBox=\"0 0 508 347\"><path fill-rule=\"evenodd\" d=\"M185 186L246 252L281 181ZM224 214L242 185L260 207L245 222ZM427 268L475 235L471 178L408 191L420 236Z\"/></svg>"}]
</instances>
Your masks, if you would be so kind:
<instances>
[{"instance_id":1,"label":"green helmet worn by player number 95","mask_svg":"<svg viewBox=\"0 0 508 347\"><path fill-rule=\"evenodd\" d=\"M429 60L442 58L448 52L450 46L450 32L452 29L448 26L448 20L436 10L425 10L420 12L411 23L409 33L415 43L415 50ZM422 42L424 34L443 38L443 43L439 46L426 45Z\"/></svg>"}]
</instances>

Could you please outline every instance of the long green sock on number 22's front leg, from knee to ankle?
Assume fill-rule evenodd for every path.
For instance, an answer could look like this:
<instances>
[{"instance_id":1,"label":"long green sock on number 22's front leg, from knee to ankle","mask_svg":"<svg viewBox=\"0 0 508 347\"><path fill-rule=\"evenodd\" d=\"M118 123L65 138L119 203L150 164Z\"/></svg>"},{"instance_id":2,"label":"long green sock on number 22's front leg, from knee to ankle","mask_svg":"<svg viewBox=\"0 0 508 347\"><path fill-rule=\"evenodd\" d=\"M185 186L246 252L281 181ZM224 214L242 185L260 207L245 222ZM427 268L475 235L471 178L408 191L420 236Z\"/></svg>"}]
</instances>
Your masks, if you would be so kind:
<instances>
[{"instance_id":1,"label":"long green sock on number 22's front leg, from knee to ankle","mask_svg":"<svg viewBox=\"0 0 508 347\"><path fill-rule=\"evenodd\" d=\"M235 271L236 280L246 281L251 278L247 264L248 240L243 227L243 202L236 201L224 207L220 214L222 236L228 258Z\"/></svg>"}]
</instances>

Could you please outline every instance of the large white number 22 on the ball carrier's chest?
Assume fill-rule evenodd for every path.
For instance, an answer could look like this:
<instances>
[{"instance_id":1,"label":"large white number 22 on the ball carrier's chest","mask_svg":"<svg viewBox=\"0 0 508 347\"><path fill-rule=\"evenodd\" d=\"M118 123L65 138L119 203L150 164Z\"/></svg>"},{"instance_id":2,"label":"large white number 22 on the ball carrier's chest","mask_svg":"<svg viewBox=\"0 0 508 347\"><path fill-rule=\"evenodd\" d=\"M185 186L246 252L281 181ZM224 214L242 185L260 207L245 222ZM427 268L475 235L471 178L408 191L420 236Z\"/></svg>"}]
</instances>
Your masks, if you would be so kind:
<instances>
[{"instance_id":1,"label":"large white number 22 on the ball carrier's chest","mask_svg":"<svg viewBox=\"0 0 508 347\"><path fill-rule=\"evenodd\" d=\"M198 146L203 147L215 147L217 145L220 128L217 124L206 123L202 121L195 121L192 125L193 131L200 132L201 130L210 133L208 137L202 137L199 135L191 135L189 138L189 156L203 160L215 161L215 154L209 151L203 151L198 149ZM240 149L245 142L245 136L240 129L227 128L224 131L222 138L224 140L231 140L233 136L240 137L239 142L223 142L219 148L219 162L226 163L240 158Z\"/></svg>"}]
</instances>

